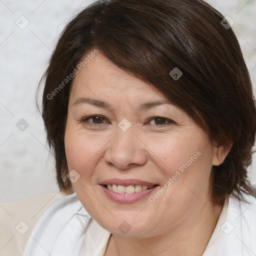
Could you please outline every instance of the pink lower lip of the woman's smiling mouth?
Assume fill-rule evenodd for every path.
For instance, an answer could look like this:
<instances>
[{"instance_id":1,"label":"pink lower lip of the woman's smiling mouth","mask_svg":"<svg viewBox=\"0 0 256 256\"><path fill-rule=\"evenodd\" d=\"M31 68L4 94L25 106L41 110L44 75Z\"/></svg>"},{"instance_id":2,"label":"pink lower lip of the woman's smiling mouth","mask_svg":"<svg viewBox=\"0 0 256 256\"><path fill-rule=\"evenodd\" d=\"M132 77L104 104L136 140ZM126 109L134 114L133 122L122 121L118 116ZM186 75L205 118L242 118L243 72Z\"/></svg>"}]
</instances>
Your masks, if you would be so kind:
<instances>
[{"instance_id":1,"label":"pink lower lip of the woman's smiling mouth","mask_svg":"<svg viewBox=\"0 0 256 256\"><path fill-rule=\"evenodd\" d=\"M150 194L152 191L154 191L159 185L154 186L150 189L141 190L140 192L134 192L134 193L117 193L113 192L107 188L105 188L103 185L100 185L106 194L107 197L112 199L113 201L119 202L119 203L131 203L135 202L146 195Z\"/></svg>"}]
</instances>

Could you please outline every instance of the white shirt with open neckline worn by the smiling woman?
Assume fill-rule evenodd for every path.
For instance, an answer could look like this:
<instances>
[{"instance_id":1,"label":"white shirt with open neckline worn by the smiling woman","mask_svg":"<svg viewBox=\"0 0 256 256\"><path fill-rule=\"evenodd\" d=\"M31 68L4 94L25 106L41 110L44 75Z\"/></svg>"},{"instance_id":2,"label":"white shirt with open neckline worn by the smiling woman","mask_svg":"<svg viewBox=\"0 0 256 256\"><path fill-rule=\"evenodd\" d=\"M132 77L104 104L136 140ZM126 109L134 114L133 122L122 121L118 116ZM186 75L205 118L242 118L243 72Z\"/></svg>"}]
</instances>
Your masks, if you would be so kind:
<instances>
[{"instance_id":1,"label":"white shirt with open neckline worn by the smiling woman","mask_svg":"<svg viewBox=\"0 0 256 256\"><path fill-rule=\"evenodd\" d=\"M203 256L256 255L256 199L226 198ZM41 216L23 256L103 256L110 232L86 212L75 193L53 203Z\"/></svg>"}]
</instances>

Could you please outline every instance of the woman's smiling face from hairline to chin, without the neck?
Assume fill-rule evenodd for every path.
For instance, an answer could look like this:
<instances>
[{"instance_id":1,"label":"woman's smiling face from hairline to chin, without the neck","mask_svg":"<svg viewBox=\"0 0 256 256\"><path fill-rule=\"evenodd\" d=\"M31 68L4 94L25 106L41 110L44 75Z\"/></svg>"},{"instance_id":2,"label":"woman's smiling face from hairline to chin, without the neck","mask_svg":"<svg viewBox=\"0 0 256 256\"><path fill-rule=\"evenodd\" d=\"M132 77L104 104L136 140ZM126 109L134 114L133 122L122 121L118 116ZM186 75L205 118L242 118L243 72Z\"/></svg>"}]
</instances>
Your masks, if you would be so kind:
<instances>
[{"instance_id":1,"label":"woman's smiling face from hairline to chin, without the neck","mask_svg":"<svg viewBox=\"0 0 256 256\"><path fill-rule=\"evenodd\" d=\"M73 189L111 233L149 237L210 214L217 148L155 87L100 52L73 78L64 139Z\"/></svg>"}]
</instances>

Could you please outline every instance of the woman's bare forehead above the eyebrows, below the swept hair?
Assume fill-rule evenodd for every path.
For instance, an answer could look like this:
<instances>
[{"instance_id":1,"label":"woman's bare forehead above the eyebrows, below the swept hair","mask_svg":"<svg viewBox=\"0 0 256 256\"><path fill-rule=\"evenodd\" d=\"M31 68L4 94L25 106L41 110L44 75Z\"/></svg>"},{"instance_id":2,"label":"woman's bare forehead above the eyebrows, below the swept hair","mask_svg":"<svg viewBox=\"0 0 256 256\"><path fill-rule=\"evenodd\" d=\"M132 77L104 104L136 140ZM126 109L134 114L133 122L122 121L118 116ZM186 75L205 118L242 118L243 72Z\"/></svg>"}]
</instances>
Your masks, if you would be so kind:
<instances>
[{"instance_id":1,"label":"woman's bare forehead above the eyebrows, below the swept hair","mask_svg":"<svg viewBox=\"0 0 256 256\"><path fill-rule=\"evenodd\" d=\"M126 98L129 95L135 97L141 94L144 99L154 96L157 99L166 99L153 85L125 72L100 53L81 66L72 80L70 97L78 97L80 94L94 97L118 94L118 97Z\"/></svg>"}]
</instances>

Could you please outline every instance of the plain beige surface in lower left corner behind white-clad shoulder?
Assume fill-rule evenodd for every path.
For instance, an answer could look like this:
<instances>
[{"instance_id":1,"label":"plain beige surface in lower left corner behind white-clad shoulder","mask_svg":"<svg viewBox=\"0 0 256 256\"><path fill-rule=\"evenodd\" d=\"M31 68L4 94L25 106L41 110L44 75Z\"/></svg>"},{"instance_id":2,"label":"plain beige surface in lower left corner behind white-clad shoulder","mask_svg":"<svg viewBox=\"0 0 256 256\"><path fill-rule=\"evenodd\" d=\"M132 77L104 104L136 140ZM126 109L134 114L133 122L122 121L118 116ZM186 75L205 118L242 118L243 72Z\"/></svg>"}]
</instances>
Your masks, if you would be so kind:
<instances>
[{"instance_id":1,"label":"plain beige surface in lower left corner behind white-clad shoulder","mask_svg":"<svg viewBox=\"0 0 256 256\"><path fill-rule=\"evenodd\" d=\"M28 238L41 215L63 191L0 203L0 255L22 255Z\"/></svg>"}]
</instances>

